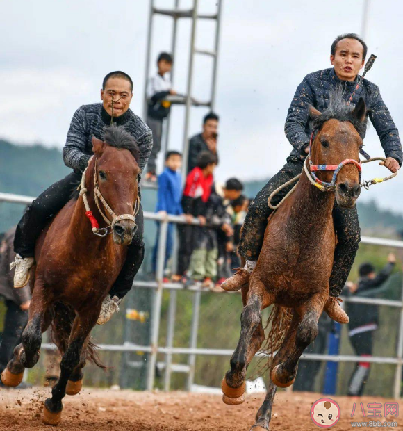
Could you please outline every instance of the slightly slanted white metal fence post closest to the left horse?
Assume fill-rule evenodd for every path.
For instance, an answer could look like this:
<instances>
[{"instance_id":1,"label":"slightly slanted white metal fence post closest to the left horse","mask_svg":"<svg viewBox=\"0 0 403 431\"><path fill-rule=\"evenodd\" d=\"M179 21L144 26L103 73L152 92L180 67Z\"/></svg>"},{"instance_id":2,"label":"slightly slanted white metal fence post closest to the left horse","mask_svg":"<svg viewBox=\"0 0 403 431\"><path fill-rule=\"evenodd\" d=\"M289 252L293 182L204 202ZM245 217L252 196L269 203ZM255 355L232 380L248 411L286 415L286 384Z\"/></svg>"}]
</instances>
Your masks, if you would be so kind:
<instances>
[{"instance_id":1,"label":"slightly slanted white metal fence post closest to the left horse","mask_svg":"<svg viewBox=\"0 0 403 431\"><path fill-rule=\"evenodd\" d=\"M154 292L153 307L151 312L151 355L147 373L147 391L154 388L155 368L157 361L158 335L161 319L161 303L163 299L163 276L165 266L165 250L167 243L168 221L162 220L160 224L160 237L158 240L156 282L158 288Z\"/></svg>"}]
</instances>

